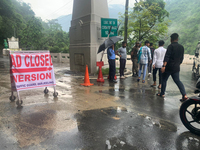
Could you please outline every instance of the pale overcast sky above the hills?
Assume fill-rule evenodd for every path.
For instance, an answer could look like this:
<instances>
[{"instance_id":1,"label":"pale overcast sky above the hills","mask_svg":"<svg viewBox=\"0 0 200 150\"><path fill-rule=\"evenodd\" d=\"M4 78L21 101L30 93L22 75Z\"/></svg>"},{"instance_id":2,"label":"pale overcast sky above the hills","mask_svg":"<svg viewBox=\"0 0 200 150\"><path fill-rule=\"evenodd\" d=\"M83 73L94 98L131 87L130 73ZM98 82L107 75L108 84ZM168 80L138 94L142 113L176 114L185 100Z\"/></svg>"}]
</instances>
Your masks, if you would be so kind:
<instances>
[{"instance_id":1,"label":"pale overcast sky above the hills","mask_svg":"<svg viewBox=\"0 0 200 150\"><path fill-rule=\"evenodd\" d=\"M31 5L36 16L43 20L55 19L62 15L72 13L73 0L21 0ZM108 5L121 4L125 5L126 0L107 0ZM130 0L130 7L133 7L135 0Z\"/></svg>"}]
</instances>

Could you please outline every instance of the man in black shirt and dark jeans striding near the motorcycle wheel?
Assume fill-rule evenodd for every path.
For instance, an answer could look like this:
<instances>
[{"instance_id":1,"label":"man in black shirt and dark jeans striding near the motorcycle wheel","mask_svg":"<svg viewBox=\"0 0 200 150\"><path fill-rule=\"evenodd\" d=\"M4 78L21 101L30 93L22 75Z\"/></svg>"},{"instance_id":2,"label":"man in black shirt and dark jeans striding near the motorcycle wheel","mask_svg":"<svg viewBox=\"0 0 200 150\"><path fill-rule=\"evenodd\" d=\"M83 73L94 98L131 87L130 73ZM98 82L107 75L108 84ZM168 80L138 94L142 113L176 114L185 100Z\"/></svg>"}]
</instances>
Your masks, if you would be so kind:
<instances>
[{"instance_id":1,"label":"man in black shirt and dark jeans striding near the motorcycle wheel","mask_svg":"<svg viewBox=\"0 0 200 150\"><path fill-rule=\"evenodd\" d=\"M167 48L165 54L164 63L162 66L163 80L161 86L161 93L157 94L158 96L164 97L166 90L166 83L169 76L172 76L172 79L178 86L182 99L181 101L187 100L185 87L179 79L180 65L183 62L184 57L184 47L178 43L178 34L173 33L171 36L171 44Z\"/></svg>"}]
</instances>

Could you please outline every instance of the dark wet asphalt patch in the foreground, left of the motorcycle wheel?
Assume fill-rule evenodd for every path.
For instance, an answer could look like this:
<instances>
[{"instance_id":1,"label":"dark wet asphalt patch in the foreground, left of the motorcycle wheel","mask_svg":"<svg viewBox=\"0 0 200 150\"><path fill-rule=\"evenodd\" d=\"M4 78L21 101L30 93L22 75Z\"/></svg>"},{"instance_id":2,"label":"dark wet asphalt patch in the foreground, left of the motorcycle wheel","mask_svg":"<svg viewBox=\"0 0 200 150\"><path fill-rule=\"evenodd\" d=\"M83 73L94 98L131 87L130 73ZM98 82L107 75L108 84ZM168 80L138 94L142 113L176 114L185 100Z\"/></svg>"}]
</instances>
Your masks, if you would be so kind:
<instances>
[{"instance_id":1,"label":"dark wet asphalt patch in the foreground, left of the motorcycle wheel","mask_svg":"<svg viewBox=\"0 0 200 150\"><path fill-rule=\"evenodd\" d=\"M83 149L95 149L96 143L99 143L99 149L104 149L107 140L111 149L175 148L174 141L171 140L176 136L175 125L163 120L156 123L155 119L127 112L126 108L118 110L118 107L109 107L83 111L76 115L83 140L85 143L90 141ZM160 127L158 122L161 122L160 126L163 127Z\"/></svg>"}]
</instances>

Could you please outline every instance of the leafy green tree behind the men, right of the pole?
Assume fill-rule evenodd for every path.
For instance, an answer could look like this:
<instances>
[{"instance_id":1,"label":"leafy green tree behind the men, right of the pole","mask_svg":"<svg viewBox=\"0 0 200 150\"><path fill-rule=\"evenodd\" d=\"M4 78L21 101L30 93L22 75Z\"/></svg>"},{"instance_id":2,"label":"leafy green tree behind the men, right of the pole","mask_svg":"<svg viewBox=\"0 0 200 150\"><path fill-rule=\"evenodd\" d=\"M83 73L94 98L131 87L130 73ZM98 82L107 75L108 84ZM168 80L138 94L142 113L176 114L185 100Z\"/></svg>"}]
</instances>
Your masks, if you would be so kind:
<instances>
[{"instance_id":1,"label":"leafy green tree behind the men, right of the pole","mask_svg":"<svg viewBox=\"0 0 200 150\"><path fill-rule=\"evenodd\" d=\"M156 43L161 37L163 38L168 31L169 13L165 9L163 0L146 0L135 3L133 10L129 12L128 26L128 49L136 41L148 39ZM123 19L124 16L120 20ZM122 28L123 29L123 28ZM123 30L120 31L123 34Z\"/></svg>"}]
</instances>

